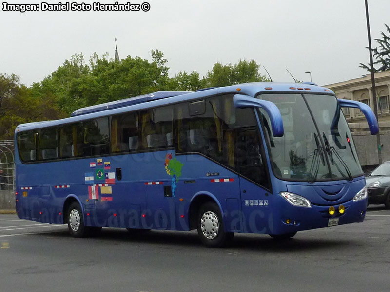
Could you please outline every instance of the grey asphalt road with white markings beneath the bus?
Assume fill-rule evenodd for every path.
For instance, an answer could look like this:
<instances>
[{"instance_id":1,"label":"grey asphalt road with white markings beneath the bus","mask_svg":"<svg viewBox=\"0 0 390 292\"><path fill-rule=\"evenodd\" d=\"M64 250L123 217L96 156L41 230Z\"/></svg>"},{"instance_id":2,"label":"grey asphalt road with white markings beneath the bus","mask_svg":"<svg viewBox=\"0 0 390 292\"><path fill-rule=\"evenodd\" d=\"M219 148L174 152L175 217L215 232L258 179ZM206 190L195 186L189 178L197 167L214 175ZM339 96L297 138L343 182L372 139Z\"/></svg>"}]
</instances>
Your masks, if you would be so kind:
<instances>
[{"instance_id":1,"label":"grey asphalt road with white markings beneath the bus","mask_svg":"<svg viewBox=\"0 0 390 292\"><path fill-rule=\"evenodd\" d=\"M277 242L238 234L225 249L195 232L104 228L75 239L64 225L0 215L0 291L389 291L390 210L363 223Z\"/></svg>"}]
</instances>

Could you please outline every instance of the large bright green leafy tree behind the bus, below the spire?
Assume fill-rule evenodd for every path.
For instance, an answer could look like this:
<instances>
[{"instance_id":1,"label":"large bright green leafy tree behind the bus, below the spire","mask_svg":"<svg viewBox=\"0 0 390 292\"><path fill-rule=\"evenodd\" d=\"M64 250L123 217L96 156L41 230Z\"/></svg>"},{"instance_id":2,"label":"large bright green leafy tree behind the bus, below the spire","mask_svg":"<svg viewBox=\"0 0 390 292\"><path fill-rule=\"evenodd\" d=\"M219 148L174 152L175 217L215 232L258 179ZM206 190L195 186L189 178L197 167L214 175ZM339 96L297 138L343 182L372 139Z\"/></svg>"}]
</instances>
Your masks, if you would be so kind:
<instances>
[{"instance_id":1,"label":"large bright green leafy tree behind the bus, below the spire","mask_svg":"<svg viewBox=\"0 0 390 292\"><path fill-rule=\"evenodd\" d=\"M152 62L131 56L114 62L107 53L101 57L94 53L89 65L82 54L73 55L33 87L38 95L53 98L68 114L86 106L165 90L169 81L167 60L161 51L151 53Z\"/></svg>"}]
</instances>

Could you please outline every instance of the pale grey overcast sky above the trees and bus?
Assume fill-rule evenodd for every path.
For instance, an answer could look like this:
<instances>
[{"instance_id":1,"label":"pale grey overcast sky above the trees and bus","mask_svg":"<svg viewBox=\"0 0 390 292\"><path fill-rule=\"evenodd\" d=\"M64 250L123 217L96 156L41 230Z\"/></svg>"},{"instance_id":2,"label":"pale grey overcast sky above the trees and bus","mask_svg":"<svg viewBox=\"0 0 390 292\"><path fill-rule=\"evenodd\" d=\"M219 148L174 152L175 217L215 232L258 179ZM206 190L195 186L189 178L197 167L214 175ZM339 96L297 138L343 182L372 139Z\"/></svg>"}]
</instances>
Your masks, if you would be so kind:
<instances>
[{"instance_id":1,"label":"pale grey overcast sky above the trees and bus","mask_svg":"<svg viewBox=\"0 0 390 292\"><path fill-rule=\"evenodd\" d=\"M193 70L204 76L215 62L234 64L240 58L256 60L262 74L265 66L274 81L292 81L285 68L303 81L310 80L305 71L311 71L320 85L367 74L358 68L359 62L369 62L364 0L148 2L148 12L20 13L0 7L0 73L16 73L30 86L75 53L83 53L86 60L94 52L114 57L117 37L121 58L151 60L152 49L162 51L171 77ZM390 0L369 0L369 10L375 47L384 23L390 25Z\"/></svg>"}]
</instances>

